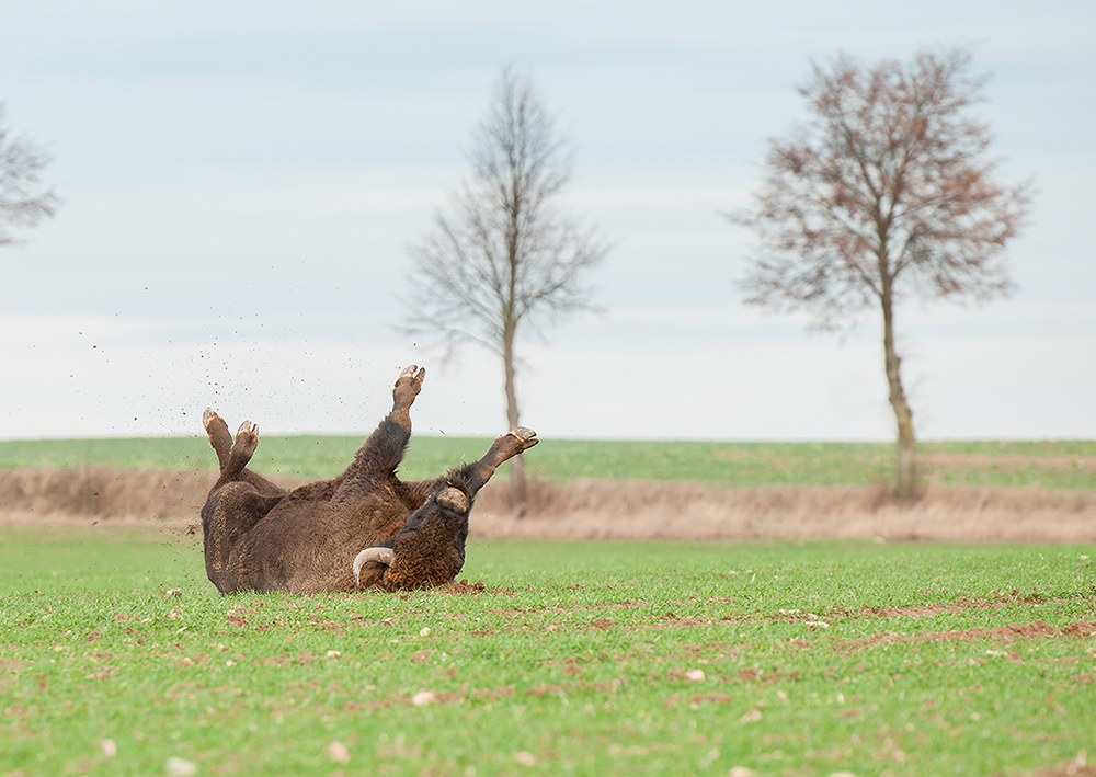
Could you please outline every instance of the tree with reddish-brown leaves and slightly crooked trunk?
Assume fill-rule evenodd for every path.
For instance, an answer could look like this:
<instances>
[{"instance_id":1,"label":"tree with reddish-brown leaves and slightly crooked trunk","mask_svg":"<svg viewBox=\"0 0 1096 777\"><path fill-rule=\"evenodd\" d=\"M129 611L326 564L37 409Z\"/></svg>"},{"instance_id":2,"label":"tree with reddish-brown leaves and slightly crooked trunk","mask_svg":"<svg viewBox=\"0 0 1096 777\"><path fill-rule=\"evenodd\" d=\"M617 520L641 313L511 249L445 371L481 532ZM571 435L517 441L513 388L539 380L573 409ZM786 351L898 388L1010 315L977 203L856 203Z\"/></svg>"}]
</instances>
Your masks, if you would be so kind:
<instances>
[{"instance_id":1,"label":"tree with reddish-brown leaves and slightly crooked trunk","mask_svg":"<svg viewBox=\"0 0 1096 777\"><path fill-rule=\"evenodd\" d=\"M799 90L810 119L769 141L754 205L728 215L760 241L746 302L807 310L823 329L878 306L902 500L917 480L895 302L1007 294L1003 251L1030 199L1029 184L995 180L989 127L970 112L985 79L970 64L966 48L922 50L905 65L814 64Z\"/></svg>"}]
</instances>

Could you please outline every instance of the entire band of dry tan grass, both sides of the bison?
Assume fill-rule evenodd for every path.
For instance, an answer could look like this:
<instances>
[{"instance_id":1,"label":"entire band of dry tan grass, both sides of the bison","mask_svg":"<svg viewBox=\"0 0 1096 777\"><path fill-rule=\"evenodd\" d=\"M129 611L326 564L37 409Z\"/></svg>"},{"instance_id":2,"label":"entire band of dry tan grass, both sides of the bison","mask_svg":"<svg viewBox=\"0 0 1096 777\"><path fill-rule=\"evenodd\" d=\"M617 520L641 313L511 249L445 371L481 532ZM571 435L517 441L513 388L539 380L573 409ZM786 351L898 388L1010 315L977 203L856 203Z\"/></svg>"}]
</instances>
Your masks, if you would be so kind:
<instances>
[{"instance_id":1,"label":"entire band of dry tan grass, both sides of the bison","mask_svg":"<svg viewBox=\"0 0 1096 777\"><path fill-rule=\"evenodd\" d=\"M106 467L0 470L0 525L185 527L213 475ZM286 481L286 487L298 484ZM1096 492L929 485L914 504L878 487L719 489L689 481L533 484L525 513L490 483L475 537L535 539L814 539L1096 541Z\"/></svg>"}]
</instances>

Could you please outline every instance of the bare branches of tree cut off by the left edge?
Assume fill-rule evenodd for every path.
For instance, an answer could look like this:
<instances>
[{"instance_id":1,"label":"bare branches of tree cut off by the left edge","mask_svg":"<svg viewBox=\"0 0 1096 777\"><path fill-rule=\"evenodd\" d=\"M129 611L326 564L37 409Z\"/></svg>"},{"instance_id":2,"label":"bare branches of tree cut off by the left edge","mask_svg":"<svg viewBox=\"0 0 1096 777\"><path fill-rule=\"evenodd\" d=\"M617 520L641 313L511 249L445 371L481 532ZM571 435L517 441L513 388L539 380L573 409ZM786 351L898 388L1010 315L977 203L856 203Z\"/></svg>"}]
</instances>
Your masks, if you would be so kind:
<instances>
[{"instance_id":1,"label":"bare branches of tree cut off by the left edge","mask_svg":"<svg viewBox=\"0 0 1096 777\"><path fill-rule=\"evenodd\" d=\"M30 140L12 136L0 104L0 248L20 242L12 227L34 227L57 209L57 195L38 179L49 162Z\"/></svg>"}]
</instances>

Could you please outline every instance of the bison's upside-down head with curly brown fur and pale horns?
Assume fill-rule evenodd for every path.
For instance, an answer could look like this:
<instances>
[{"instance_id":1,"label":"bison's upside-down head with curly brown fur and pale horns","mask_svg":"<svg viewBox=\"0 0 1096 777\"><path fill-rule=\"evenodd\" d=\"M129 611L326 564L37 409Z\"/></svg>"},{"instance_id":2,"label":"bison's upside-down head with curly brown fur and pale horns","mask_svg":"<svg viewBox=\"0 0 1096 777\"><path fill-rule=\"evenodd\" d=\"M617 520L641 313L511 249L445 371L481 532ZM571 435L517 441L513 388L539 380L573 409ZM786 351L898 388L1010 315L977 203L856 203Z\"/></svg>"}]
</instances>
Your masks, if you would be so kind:
<instances>
[{"instance_id":1,"label":"bison's upside-down head with curly brown fur and pale horns","mask_svg":"<svg viewBox=\"0 0 1096 777\"><path fill-rule=\"evenodd\" d=\"M354 559L358 589L425 589L452 581L465 564L471 498L447 487L408 518L395 539Z\"/></svg>"}]
</instances>

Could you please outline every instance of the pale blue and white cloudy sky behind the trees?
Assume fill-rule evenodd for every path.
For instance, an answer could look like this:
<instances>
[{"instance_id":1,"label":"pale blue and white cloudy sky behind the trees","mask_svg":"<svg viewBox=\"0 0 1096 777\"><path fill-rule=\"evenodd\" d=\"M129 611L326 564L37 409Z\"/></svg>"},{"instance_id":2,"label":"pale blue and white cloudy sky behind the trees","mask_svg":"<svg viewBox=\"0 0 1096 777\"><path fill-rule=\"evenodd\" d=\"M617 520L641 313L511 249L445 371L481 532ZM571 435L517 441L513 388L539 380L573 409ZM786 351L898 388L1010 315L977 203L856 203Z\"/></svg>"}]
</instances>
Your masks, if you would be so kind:
<instances>
[{"instance_id":1,"label":"pale blue and white cloudy sky behind the trees","mask_svg":"<svg viewBox=\"0 0 1096 777\"><path fill-rule=\"evenodd\" d=\"M673 7L673 10L670 10ZM886 439L878 324L743 307L766 139L812 59L973 44L1009 182L1039 194L983 308L899 312L924 438L1096 437L1096 5L0 0L8 124L57 217L0 252L0 438L357 432L426 365L424 433L503 431L501 368L397 334L406 248L467 176L500 69L575 148L569 205L615 248L601 316L524 345L541 437Z\"/></svg>"}]
</instances>

